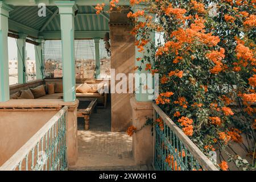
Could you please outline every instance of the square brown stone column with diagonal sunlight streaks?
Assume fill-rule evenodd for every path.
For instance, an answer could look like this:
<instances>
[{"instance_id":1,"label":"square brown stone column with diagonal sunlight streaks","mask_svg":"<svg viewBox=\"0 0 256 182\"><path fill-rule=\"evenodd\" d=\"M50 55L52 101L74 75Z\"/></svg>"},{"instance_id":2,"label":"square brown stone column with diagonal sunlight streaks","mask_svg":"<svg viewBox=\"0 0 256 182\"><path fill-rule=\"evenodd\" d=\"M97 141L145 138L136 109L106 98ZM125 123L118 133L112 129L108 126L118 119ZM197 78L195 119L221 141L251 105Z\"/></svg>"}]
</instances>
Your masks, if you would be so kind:
<instances>
[{"instance_id":1,"label":"square brown stone column with diagonal sunlight streaks","mask_svg":"<svg viewBox=\"0 0 256 182\"><path fill-rule=\"evenodd\" d=\"M115 80L118 73L134 73L134 36L130 34L133 26L127 18L129 11L121 13L110 13L110 44L111 44L111 127L112 131L126 131L132 124L132 109L130 97L133 96L133 90L129 93L128 85L126 93L115 92L115 87L119 87L121 80ZM133 82L129 79L129 82Z\"/></svg>"}]
</instances>

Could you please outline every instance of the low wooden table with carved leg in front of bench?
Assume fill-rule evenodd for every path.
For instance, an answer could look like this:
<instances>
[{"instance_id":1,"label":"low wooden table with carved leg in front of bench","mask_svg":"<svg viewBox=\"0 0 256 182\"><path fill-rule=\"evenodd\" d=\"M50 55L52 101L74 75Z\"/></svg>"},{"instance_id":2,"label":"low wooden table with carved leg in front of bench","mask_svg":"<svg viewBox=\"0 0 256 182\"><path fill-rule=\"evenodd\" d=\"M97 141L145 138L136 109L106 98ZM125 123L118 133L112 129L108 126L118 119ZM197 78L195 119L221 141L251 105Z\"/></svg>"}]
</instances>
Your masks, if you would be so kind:
<instances>
[{"instance_id":1,"label":"low wooden table with carved leg in front of bench","mask_svg":"<svg viewBox=\"0 0 256 182\"><path fill-rule=\"evenodd\" d=\"M77 117L84 118L84 129L89 130L90 114L97 111L97 98L80 98L77 108Z\"/></svg>"}]
</instances>

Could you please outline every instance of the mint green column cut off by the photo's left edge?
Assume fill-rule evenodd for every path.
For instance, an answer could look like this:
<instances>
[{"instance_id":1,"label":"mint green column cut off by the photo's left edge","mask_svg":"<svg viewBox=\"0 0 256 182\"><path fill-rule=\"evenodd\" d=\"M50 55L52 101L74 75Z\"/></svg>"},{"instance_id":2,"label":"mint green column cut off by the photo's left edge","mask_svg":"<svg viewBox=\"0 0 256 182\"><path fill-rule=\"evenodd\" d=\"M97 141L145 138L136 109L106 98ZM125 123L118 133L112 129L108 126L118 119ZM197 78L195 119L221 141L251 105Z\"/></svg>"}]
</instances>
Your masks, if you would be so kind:
<instances>
[{"instance_id":1,"label":"mint green column cut off by the photo's left edge","mask_svg":"<svg viewBox=\"0 0 256 182\"><path fill-rule=\"evenodd\" d=\"M0 1L0 102L10 100L9 57L8 57L8 18L10 6Z\"/></svg>"}]
</instances>

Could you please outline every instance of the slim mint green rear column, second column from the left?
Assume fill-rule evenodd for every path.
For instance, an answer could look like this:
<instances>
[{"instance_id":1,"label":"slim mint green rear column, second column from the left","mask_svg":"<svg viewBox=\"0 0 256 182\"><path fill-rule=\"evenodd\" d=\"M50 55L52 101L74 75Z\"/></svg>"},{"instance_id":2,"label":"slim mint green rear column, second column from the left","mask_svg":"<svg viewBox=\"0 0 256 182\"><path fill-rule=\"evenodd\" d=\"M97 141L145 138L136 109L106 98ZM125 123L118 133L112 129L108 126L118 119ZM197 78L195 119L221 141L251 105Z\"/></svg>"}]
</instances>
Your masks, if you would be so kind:
<instances>
[{"instance_id":1,"label":"slim mint green rear column, second column from the left","mask_svg":"<svg viewBox=\"0 0 256 182\"><path fill-rule=\"evenodd\" d=\"M18 83L26 83L26 34L19 34L17 39L18 55Z\"/></svg>"}]
</instances>

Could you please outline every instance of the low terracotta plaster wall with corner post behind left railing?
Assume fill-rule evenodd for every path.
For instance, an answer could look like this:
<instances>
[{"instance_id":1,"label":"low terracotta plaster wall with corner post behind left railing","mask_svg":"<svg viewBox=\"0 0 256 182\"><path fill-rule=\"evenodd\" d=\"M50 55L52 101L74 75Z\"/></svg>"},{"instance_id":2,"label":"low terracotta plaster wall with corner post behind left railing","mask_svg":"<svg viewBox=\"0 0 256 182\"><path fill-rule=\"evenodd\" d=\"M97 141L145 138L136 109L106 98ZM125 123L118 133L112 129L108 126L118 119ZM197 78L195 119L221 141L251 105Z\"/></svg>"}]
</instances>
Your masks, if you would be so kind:
<instances>
[{"instance_id":1,"label":"low terracotta plaster wall with corner post behind left railing","mask_svg":"<svg viewBox=\"0 0 256 182\"><path fill-rule=\"evenodd\" d=\"M78 158L77 105L79 101L10 100L0 103L0 166L22 147L49 119L67 105L68 165ZM15 109L14 109L15 108ZM26 109L25 109L26 108Z\"/></svg>"}]
</instances>

